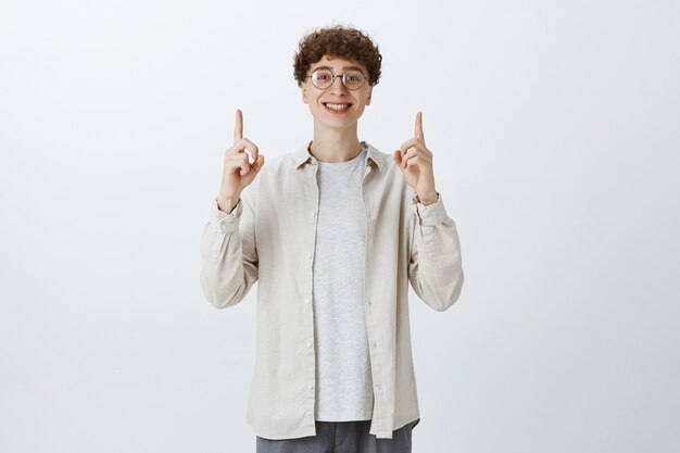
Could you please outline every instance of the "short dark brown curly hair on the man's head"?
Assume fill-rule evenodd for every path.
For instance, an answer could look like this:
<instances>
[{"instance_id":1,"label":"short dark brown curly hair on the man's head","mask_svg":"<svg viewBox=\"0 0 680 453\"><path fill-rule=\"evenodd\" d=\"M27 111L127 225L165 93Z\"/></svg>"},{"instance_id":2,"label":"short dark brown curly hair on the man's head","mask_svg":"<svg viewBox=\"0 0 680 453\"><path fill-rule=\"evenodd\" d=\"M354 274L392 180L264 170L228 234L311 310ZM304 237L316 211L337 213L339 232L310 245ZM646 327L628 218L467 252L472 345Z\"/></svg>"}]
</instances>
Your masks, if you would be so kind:
<instances>
[{"instance_id":1,"label":"short dark brown curly hair on the man's head","mask_svg":"<svg viewBox=\"0 0 680 453\"><path fill-rule=\"evenodd\" d=\"M310 66L324 55L333 55L363 64L368 70L368 83L380 79L382 55L367 34L350 26L335 25L317 28L300 40L293 63L293 76L301 87Z\"/></svg>"}]
</instances>

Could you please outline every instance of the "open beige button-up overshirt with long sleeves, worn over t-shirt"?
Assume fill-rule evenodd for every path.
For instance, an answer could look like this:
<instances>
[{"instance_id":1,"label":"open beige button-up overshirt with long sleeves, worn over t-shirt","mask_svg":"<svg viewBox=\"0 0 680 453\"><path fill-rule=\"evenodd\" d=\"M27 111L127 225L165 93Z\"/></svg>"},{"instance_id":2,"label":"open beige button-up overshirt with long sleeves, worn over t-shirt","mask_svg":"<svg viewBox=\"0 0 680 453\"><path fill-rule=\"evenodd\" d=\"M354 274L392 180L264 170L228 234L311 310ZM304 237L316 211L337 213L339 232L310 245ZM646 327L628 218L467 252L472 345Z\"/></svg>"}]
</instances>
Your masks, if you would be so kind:
<instances>
[{"instance_id":1,"label":"open beige button-up overshirt with long sleeves, worn over t-shirt","mask_svg":"<svg viewBox=\"0 0 680 453\"><path fill-rule=\"evenodd\" d=\"M392 155L369 143L364 309L374 407L370 433L420 419L411 352L408 281L437 311L459 297L464 275L455 222L441 194L418 202ZM227 214L211 206L201 238L201 287L217 309L259 281L256 358L247 420L266 439L316 435L313 261L318 161L307 147L269 159ZM415 426L414 424L414 426Z\"/></svg>"}]
</instances>

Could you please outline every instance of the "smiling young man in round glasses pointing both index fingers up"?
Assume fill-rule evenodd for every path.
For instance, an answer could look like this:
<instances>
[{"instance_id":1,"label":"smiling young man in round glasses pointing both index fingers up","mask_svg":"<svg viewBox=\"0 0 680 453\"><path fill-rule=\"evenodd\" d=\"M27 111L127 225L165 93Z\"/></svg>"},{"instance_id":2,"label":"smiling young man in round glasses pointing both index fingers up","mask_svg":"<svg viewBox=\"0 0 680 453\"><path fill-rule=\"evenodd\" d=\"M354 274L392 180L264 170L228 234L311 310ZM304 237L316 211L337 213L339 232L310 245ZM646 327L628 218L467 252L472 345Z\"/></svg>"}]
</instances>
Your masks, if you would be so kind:
<instances>
[{"instance_id":1,"label":"smiling young man in round glasses pointing both index fingers up","mask_svg":"<svg viewBox=\"0 0 680 453\"><path fill-rule=\"evenodd\" d=\"M201 285L224 309L259 281L247 417L259 453L411 452L420 416L408 281L437 311L461 293L458 235L421 114L393 155L358 140L381 60L354 28L304 37L294 76L314 136L266 165L237 110L201 239Z\"/></svg>"}]
</instances>

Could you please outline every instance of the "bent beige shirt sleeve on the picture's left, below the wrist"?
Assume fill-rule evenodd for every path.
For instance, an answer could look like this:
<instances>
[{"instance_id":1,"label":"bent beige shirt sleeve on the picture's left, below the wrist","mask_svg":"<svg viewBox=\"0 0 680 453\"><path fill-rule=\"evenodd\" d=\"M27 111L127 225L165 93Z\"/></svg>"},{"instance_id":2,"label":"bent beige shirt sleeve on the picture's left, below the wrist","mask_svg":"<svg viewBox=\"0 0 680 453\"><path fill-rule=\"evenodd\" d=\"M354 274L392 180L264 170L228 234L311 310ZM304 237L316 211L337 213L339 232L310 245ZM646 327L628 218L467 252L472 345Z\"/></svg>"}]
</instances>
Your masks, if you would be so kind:
<instances>
[{"instance_id":1,"label":"bent beige shirt sleeve on the picture's left, below the wrist","mask_svg":"<svg viewBox=\"0 0 680 453\"><path fill-rule=\"evenodd\" d=\"M257 281L254 202L247 188L231 212L213 200L210 219L201 236L201 288L217 309L239 303Z\"/></svg>"}]
</instances>

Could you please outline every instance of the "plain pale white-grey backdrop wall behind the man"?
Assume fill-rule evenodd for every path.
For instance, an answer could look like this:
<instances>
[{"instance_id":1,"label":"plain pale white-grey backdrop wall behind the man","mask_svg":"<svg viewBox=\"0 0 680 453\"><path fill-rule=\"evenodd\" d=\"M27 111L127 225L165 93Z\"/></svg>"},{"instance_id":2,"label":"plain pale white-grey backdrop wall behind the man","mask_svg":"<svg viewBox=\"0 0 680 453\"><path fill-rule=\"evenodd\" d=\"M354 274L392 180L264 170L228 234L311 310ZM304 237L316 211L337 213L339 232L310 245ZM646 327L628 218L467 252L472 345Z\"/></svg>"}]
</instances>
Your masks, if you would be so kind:
<instances>
[{"instance_id":1,"label":"plain pale white-grey backdrop wall behind the man","mask_svg":"<svg viewBox=\"0 0 680 453\"><path fill-rule=\"evenodd\" d=\"M3 0L0 451L254 451L254 288L216 311L199 239L235 110L312 137L299 39L383 55L360 138L418 110L466 282L412 292L414 453L677 452L676 1Z\"/></svg>"}]
</instances>

